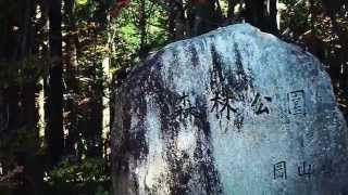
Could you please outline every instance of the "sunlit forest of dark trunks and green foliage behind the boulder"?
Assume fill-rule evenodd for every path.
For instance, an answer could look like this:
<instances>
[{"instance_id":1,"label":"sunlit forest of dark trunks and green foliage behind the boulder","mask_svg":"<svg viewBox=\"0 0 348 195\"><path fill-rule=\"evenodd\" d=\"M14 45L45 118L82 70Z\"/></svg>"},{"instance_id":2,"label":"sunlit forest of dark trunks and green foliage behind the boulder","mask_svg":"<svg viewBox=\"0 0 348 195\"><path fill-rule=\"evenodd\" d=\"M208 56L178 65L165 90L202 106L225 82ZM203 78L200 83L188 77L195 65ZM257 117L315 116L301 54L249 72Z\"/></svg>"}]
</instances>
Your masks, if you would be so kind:
<instances>
[{"instance_id":1,"label":"sunlit forest of dark trunks and green foliage behind the boulder","mask_svg":"<svg viewBox=\"0 0 348 195\"><path fill-rule=\"evenodd\" d=\"M348 118L346 0L0 0L0 195L108 195L114 95L161 47L236 23L324 64Z\"/></svg>"}]
</instances>

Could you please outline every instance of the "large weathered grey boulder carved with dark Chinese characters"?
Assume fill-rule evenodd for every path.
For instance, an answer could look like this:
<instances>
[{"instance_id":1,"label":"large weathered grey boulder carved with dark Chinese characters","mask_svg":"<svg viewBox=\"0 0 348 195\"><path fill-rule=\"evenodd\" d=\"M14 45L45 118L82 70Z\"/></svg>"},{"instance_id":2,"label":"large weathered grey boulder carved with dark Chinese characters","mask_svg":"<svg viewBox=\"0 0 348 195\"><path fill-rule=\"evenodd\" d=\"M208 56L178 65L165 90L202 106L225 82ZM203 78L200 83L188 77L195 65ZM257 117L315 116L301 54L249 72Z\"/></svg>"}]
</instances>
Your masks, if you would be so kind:
<instances>
[{"instance_id":1,"label":"large weathered grey boulder carved with dark Chinese characters","mask_svg":"<svg viewBox=\"0 0 348 195\"><path fill-rule=\"evenodd\" d=\"M348 131L321 63L247 25L172 43L116 95L115 194L348 194Z\"/></svg>"}]
</instances>

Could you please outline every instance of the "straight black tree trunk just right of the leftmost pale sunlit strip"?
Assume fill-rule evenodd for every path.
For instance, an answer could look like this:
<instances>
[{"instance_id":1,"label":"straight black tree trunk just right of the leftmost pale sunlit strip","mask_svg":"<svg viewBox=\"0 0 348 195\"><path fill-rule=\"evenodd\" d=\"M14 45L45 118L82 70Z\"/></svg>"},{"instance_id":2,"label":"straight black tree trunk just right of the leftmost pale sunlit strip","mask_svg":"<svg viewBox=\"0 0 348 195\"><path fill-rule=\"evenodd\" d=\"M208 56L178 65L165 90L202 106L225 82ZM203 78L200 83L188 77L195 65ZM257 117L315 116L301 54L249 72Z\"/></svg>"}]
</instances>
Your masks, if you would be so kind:
<instances>
[{"instance_id":1,"label":"straight black tree trunk just right of the leftmost pale sunlit strip","mask_svg":"<svg viewBox=\"0 0 348 195\"><path fill-rule=\"evenodd\" d=\"M63 155L63 67L62 67L62 0L49 1L49 46L51 67L48 91L47 145L51 165L57 165Z\"/></svg>"}]
</instances>

